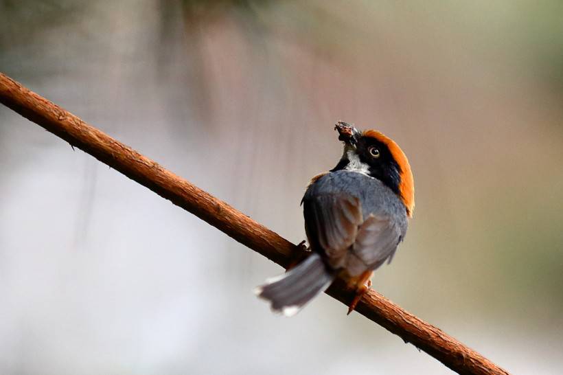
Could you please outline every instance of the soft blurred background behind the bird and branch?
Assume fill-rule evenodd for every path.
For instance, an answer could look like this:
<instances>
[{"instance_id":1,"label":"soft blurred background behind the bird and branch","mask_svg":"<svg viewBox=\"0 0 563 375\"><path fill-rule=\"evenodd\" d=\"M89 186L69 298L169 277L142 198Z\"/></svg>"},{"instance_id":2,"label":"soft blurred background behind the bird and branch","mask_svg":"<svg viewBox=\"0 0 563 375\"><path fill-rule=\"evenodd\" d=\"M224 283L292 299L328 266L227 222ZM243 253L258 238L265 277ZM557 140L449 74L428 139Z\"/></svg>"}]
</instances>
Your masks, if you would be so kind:
<instances>
[{"instance_id":1,"label":"soft blurred background behind the bird and branch","mask_svg":"<svg viewBox=\"0 0 563 375\"><path fill-rule=\"evenodd\" d=\"M563 366L563 3L0 0L0 71L294 243L333 124L416 209L374 288L516 374ZM450 374L0 106L1 374Z\"/></svg>"}]
</instances>

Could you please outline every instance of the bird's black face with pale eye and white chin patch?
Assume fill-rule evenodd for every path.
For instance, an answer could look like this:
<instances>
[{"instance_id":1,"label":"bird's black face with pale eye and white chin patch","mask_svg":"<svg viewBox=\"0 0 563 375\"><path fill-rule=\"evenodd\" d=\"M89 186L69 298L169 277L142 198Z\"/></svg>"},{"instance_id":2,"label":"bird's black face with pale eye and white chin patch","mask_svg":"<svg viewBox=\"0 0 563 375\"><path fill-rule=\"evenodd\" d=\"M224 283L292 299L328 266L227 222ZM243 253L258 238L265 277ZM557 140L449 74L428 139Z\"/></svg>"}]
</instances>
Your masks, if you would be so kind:
<instances>
[{"instance_id":1,"label":"bird's black face with pale eye and white chin patch","mask_svg":"<svg viewBox=\"0 0 563 375\"><path fill-rule=\"evenodd\" d=\"M387 145L374 137L359 137L356 144L345 142L344 154L335 170L352 170L374 177L399 194L400 166Z\"/></svg>"}]
</instances>

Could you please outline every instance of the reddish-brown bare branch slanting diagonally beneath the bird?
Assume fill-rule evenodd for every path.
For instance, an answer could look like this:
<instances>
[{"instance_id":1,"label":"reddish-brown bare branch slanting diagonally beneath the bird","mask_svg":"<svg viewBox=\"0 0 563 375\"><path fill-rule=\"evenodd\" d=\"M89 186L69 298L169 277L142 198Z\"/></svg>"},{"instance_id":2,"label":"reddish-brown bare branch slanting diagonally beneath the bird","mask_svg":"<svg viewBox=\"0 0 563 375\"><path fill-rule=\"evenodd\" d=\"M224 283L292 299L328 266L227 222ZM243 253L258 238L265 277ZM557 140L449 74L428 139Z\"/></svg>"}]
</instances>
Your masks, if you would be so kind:
<instances>
[{"instance_id":1,"label":"reddish-brown bare branch slanting diagonally beneath the bird","mask_svg":"<svg viewBox=\"0 0 563 375\"><path fill-rule=\"evenodd\" d=\"M0 102L281 266L288 266L295 257L295 252L299 251L291 242L227 203L181 179L2 73ZM344 304L349 304L353 297L353 291L338 280L327 293ZM376 291L366 293L356 310L459 374L508 374L478 352L406 312Z\"/></svg>"}]
</instances>

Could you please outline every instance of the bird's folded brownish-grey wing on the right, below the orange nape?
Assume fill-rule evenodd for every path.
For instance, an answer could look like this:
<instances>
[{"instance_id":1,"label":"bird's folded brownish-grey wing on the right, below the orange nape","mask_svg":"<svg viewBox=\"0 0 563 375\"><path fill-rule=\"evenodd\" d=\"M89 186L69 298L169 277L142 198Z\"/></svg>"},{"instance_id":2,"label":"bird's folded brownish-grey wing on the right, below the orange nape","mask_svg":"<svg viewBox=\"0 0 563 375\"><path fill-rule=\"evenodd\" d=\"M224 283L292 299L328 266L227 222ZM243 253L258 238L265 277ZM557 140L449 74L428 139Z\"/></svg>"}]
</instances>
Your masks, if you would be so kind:
<instances>
[{"instance_id":1,"label":"bird's folded brownish-grey wing on the right, below the orange nape","mask_svg":"<svg viewBox=\"0 0 563 375\"><path fill-rule=\"evenodd\" d=\"M377 269L393 254L402 240L401 229L390 216L370 214L358 229L345 268L352 276Z\"/></svg>"}]
</instances>

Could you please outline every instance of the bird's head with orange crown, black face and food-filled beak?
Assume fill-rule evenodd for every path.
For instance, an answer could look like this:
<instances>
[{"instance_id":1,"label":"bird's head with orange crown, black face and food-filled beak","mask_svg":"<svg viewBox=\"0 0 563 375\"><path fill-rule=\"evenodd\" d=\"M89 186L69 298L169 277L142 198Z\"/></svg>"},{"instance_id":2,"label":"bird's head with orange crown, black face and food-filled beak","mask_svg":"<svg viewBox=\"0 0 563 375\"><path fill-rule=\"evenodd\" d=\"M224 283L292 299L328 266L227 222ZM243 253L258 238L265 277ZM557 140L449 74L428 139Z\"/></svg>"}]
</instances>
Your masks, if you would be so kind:
<instances>
[{"instance_id":1,"label":"bird's head with orange crown, black face and food-filled beak","mask_svg":"<svg viewBox=\"0 0 563 375\"><path fill-rule=\"evenodd\" d=\"M360 131L338 122L338 139L344 142L342 158L334 170L354 170L374 177L399 196L409 217L415 208L413 172L406 155L393 141L377 130Z\"/></svg>"}]
</instances>

